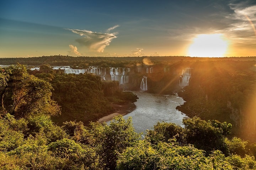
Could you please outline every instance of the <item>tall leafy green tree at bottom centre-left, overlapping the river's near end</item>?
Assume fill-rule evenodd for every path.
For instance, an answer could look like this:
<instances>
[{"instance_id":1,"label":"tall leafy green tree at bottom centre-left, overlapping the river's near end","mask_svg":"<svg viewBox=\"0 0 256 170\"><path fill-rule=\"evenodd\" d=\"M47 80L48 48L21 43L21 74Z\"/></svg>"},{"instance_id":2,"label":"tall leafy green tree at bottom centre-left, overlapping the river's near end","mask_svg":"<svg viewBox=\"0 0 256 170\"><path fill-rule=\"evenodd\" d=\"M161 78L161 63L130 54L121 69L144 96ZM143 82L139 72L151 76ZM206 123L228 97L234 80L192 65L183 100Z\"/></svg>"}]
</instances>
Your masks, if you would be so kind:
<instances>
[{"instance_id":1,"label":"tall leafy green tree at bottom centre-left, overlapping the river's near end","mask_svg":"<svg viewBox=\"0 0 256 170\"><path fill-rule=\"evenodd\" d=\"M97 154L101 168L115 169L117 154L122 153L126 147L132 146L139 135L134 132L132 118L124 120L122 115L115 117L109 126L92 123L92 133L96 138Z\"/></svg>"}]
</instances>

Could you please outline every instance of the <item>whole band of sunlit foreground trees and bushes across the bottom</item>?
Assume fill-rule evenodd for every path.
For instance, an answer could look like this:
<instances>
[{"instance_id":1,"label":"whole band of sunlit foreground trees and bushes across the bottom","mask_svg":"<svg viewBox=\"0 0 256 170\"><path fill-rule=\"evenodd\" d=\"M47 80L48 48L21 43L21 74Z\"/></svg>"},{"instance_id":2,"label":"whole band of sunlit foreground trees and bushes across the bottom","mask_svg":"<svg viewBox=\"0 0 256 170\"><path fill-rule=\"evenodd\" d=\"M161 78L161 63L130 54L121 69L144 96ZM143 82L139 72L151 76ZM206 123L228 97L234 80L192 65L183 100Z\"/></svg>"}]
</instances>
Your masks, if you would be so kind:
<instances>
[{"instance_id":1,"label":"whole band of sunlit foreground trees and bushes across the bottom","mask_svg":"<svg viewBox=\"0 0 256 170\"><path fill-rule=\"evenodd\" d=\"M7 114L0 121L2 137L0 168L22 170L256 168L255 158L248 155L250 152L245 149L248 147L247 142L239 138L224 140L229 153L239 151L241 148L236 155L225 157L215 147L211 148L212 151L207 150L209 149L207 146L212 146L211 143L214 143L213 141L209 143L209 139L213 138L220 142L215 142L217 146L223 144L225 123L222 124L223 127L216 128L212 123L220 125L217 121L206 122L192 118L184 122L185 128L172 123L158 123L154 126L154 130L148 131L145 140L140 140L139 135L134 132L131 118L124 120L121 115L109 125L90 123L89 127L85 127L82 122L69 121L59 127L46 115L17 120ZM21 125L27 126L21 128ZM54 132L56 127L58 132ZM63 133L64 131L68 135ZM24 138L23 133L28 136ZM59 137L52 137L55 133L58 133ZM194 135L204 143L198 145L197 141L191 140L195 138ZM177 137L185 142L178 142L180 138ZM191 145L194 143L197 146Z\"/></svg>"}]
</instances>

